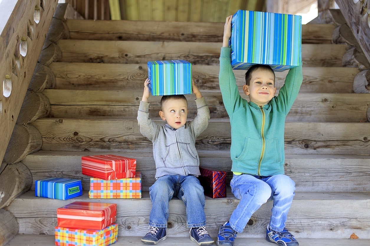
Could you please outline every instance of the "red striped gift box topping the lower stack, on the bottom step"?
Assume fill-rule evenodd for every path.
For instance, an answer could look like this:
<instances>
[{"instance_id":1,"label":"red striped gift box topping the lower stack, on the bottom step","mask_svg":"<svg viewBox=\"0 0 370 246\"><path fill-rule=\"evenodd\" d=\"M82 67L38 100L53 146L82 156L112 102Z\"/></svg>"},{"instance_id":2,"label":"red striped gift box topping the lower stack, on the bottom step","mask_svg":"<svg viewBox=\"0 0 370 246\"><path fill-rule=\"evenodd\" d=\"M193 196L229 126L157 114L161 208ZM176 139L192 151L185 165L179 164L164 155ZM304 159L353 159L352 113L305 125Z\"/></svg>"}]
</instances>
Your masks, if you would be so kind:
<instances>
[{"instance_id":1,"label":"red striped gift box topping the lower stack, on the bottom step","mask_svg":"<svg viewBox=\"0 0 370 246\"><path fill-rule=\"evenodd\" d=\"M101 230L115 222L117 204L72 202L57 208L58 226L74 229Z\"/></svg>"}]
</instances>

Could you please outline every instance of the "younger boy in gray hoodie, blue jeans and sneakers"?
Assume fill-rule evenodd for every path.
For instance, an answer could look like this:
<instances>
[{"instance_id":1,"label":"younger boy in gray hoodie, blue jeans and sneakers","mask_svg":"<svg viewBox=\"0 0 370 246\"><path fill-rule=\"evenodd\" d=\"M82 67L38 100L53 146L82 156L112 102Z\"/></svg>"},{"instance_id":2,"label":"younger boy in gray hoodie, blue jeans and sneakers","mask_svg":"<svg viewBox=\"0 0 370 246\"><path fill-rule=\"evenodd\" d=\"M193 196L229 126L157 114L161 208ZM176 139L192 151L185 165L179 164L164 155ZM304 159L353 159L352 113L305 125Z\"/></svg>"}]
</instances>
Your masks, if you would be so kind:
<instances>
[{"instance_id":1,"label":"younger boy in gray hoodie, blue jeans and sneakers","mask_svg":"<svg viewBox=\"0 0 370 246\"><path fill-rule=\"evenodd\" d=\"M149 188L152 209L149 232L141 239L146 244L157 244L166 239L169 201L178 197L186 206L186 223L190 239L198 245L212 245L214 240L205 229L205 198L199 183L199 157L195 139L208 127L209 109L194 81L197 116L186 121L188 102L184 95L162 96L159 116L165 125L149 118L149 79L144 82L144 92L138 110L138 125L143 136L153 143L153 156L157 169L156 181Z\"/></svg>"}]
</instances>

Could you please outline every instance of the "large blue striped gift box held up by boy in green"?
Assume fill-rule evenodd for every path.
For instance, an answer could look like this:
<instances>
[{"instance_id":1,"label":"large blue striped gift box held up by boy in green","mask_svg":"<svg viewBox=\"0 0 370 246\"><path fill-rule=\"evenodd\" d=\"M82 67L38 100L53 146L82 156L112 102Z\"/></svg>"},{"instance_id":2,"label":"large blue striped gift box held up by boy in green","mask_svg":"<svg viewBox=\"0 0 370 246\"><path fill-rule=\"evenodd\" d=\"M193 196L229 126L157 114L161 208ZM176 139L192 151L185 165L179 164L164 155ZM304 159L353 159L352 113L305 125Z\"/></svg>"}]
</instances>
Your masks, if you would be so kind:
<instances>
[{"instance_id":1,"label":"large blue striped gift box held up by boy in green","mask_svg":"<svg viewBox=\"0 0 370 246\"><path fill-rule=\"evenodd\" d=\"M238 10L231 21L231 66L281 72L302 65L302 16Z\"/></svg>"}]
</instances>

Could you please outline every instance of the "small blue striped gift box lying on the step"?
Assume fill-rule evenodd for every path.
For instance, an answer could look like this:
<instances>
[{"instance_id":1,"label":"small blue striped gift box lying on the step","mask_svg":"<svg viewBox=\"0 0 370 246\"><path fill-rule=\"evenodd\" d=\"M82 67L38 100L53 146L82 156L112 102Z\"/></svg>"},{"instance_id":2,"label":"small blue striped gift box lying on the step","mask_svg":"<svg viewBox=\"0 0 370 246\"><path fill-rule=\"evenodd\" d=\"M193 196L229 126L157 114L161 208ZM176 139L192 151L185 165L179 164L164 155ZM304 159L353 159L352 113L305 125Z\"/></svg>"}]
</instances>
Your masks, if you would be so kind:
<instances>
[{"instance_id":1,"label":"small blue striped gift box lying on the step","mask_svg":"<svg viewBox=\"0 0 370 246\"><path fill-rule=\"evenodd\" d=\"M46 178L35 181L35 196L67 200L82 195L81 180Z\"/></svg>"}]
</instances>

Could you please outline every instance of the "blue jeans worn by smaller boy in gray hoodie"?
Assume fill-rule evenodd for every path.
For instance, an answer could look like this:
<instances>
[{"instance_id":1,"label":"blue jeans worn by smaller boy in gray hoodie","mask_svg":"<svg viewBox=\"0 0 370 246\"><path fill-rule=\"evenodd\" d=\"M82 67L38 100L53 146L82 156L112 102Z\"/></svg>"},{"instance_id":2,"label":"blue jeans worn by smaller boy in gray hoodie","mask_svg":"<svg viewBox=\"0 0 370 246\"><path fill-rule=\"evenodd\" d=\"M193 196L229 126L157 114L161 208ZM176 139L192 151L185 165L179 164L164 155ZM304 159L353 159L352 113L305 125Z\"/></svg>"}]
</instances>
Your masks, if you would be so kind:
<instances>
[{"instance_id":1,"label":"blue jeans worn by smaller boy in gray hoodie","mask_svg":"<svg viewBox=\"0 0 370 246\"><path fill-rule=\"evenodd\" d=\"M164 175L149 188L152 210L149 226L167 227L169 201L178 197L186 207L186 224L189 228L206 225L204 191L193 175Z\"/></svg>"}]
</instances>

